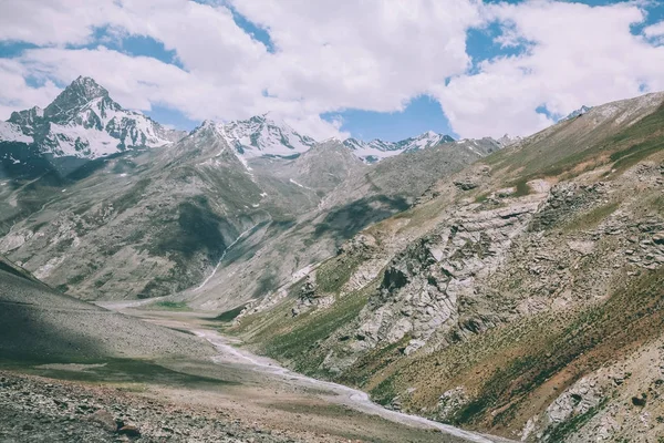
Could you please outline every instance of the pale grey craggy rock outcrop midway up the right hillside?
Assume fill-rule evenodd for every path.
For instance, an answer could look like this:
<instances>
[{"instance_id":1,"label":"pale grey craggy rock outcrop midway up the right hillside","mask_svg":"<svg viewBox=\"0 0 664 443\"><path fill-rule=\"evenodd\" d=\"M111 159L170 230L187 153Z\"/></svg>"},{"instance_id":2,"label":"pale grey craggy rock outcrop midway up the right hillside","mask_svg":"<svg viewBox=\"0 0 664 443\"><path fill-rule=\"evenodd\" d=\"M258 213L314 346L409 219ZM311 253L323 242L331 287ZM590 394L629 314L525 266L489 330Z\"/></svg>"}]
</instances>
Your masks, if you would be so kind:
<instances>
[{"instance_id":1,"label":"pale grey craggy rock outcrop midway up the right hillside","mask_svg":"<svg viewBox=\"0 0 664 443\"><path fill-rule=\"evenodd\" d=\"M434 333L452 333L452 341L494 327L499 320L491 313L466 317L464 307L483 292L478 281L497 271L511 238L526 229L538 204L479 213L468 208L395 257L360 313L359 330L366 337L362 347L408 336L407 356Z\"/></svg>"}]
</instances>

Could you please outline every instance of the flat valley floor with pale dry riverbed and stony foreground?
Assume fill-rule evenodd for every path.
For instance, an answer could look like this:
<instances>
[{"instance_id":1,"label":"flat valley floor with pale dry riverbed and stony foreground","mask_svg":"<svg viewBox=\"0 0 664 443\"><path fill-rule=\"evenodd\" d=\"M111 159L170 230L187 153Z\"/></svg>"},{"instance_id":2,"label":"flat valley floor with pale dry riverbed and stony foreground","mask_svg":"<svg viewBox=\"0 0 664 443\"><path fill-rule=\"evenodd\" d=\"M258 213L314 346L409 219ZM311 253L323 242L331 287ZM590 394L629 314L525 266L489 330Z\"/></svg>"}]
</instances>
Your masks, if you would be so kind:
<instances>
[{"instance_id":1,"label":"flat valley floor with pale dry riverbed and stony foreground","mask_svg":"<svg viewBox=\"0 0 664 443\"><path fill-rule=\"evenodd\" d=\"M191 312L123 312L208 339L212 360L3 364L0 442L499 442L384 410L366 394L251 356ZM100 412L101 411L101 412Z\"/></svg>"}]
</instances>

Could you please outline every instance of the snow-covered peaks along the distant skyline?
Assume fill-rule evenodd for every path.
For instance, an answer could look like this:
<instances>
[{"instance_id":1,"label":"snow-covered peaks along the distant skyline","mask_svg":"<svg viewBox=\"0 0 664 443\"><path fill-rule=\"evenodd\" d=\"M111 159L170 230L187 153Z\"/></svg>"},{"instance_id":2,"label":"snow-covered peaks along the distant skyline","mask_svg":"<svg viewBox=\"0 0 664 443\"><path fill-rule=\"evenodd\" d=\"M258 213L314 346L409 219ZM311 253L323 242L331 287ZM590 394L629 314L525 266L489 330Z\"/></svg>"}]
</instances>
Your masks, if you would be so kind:
<instances>
[{"instance_id":1,"label":"snow-covered peaks along the distant skyline","mask_svg":"<svg viewBox=\"0 0 664 443\"><path fill-rule=\"evenodd\" d=\"M298 156L319 144L269 114L229 123L206 121L201 126L214 126L243 159ZM111 99L108 91L93 79L83 76L74 80L45 109L34 106L13 112L7 122L0 122L0 143L28 144L49 158L95 159L127 150L166 146L185 135L185 132L167 128L141 113L123 109ZM454 138L449 135L432 131L400 142L342 141L365 163L450 142ZM17 164L21 162L10 154L6 157Z\"/></svg>"}]
</instances>

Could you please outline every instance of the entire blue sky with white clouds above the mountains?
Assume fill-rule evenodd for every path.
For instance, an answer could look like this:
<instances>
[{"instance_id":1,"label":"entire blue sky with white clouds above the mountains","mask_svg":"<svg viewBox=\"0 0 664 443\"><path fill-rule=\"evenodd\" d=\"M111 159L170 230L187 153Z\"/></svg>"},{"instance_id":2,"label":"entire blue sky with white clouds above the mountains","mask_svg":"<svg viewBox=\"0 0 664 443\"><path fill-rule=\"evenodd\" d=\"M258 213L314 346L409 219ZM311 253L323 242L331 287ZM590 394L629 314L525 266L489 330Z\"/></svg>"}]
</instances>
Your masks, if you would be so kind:
<instances>
[{"instance_id":1,"label":"entire blue sky with white clouds above the mountains","mask_svg":"<svg viewBox=\"0 0 664 443\"><path fill-rule=\"evenodd\" d=\"M664 90L664 1L0 1L0 119L79 75L183 130L269 112L317 140L529 135Z\"/></svg>"}]
</instances>

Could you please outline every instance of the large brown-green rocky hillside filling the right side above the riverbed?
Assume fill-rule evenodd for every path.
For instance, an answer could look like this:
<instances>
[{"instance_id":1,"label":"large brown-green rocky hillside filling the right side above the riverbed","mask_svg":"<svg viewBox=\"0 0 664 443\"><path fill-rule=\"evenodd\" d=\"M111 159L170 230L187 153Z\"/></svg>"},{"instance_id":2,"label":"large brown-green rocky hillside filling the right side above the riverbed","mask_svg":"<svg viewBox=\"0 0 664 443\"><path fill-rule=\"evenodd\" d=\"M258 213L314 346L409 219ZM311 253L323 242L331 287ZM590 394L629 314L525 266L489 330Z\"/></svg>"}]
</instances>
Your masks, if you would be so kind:
<instances>
[{"instance_id":1,"label":"large brown-green rocky hillside filling the right side above the riverbed","mask_svg":"<svg viewBox=\"0 0 664 443\"><path fill-rule=\"evenodd\" d=\"M532 442L654 440L663 192L664 94L596 106L443 177L234 328L394 409Z\"/></svg>"}]
</instances>

